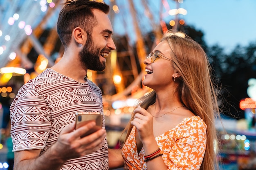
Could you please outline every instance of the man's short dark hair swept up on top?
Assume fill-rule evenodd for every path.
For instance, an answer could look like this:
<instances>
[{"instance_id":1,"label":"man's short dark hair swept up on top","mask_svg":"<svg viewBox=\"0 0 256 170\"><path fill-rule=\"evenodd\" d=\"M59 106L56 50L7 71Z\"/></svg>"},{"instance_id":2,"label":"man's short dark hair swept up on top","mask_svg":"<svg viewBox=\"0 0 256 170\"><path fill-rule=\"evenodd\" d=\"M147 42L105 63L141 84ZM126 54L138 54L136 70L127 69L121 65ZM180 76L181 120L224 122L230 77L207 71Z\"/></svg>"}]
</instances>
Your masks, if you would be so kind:
<instances>
[{"instance_id":1,"label":"man's short dark hair swept up on top","mask_svg":"<svg viewBox=\"0 0 256 170\"><path fill-rule=\"evenodd\" d=\"M81 27L88 36L91 36L92 28L97 25L92 9L99 9L106 14L109 12L109 6L105 3L90 0L66 0L57 23L57 32L64 47L69 45L72 31L76 27Z\"/></svg>"}]
</instances>

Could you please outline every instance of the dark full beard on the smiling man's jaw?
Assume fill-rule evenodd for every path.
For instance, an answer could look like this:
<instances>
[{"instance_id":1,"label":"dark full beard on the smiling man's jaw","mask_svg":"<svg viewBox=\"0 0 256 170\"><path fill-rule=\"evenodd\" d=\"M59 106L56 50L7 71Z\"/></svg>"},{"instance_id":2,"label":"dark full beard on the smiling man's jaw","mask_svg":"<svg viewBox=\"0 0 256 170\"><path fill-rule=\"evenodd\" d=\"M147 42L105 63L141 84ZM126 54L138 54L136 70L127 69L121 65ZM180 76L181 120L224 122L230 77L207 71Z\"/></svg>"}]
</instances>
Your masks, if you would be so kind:
<instances>
[{"instance_id":1,"label":"dark full beard on the smiling man's jaw","mask_svg":"<svg viewBox=\"0 0 256 170\"><path fill-rule=\"evenodd\" d=\"M103 49L104 50L104 49ZM103 71L106 68L106 62L99 60L101 51L92 41L92 37L88 36L83 49L79 52L80 61L83 65L90 70Z\"/></svg>"}]
</instances>

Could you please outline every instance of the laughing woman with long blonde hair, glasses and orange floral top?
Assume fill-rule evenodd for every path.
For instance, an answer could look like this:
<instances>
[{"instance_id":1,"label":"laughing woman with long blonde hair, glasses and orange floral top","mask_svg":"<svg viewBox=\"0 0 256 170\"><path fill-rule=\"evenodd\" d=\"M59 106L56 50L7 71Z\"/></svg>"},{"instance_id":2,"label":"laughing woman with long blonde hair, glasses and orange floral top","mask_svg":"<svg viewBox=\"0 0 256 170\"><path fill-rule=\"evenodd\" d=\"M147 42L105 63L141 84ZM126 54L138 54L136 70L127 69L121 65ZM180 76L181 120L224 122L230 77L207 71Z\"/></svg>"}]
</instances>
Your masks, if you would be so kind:
<instances>
[{"instance_id":1,"label":"laughing woman with long blonde hair, glasses and orange floral top","mask_svg":"<svg viewBox=\"0 0 256 170\"><path fill-rule=\"evenodd\" d=\"M213 170L219 111L204 50L168 31L144 63L143 84L153 91L139 99L125 129L125 168Z\"/></svg>"}]
</instances>

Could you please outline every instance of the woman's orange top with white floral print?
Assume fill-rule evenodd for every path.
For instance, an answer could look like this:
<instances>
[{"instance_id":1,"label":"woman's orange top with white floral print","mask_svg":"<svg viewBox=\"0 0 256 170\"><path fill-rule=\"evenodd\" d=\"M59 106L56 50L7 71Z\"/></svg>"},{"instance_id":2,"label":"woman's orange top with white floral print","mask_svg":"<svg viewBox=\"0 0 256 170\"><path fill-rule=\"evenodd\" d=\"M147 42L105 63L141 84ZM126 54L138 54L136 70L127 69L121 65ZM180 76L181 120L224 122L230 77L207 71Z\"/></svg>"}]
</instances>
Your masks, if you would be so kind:
<instances>
[{"instance_id":1,"label":"woman's orange top with white floral print","mask_svg":"<svg viewBox=\"0 0 256 170\"><path fill-rule=\"evenodd\" d=\"M199 170L206 148L206 124L198 116L185 118L162 135L155 137L168 170ZM144 148L137 152L135 129L122 149L126 170L146 170Z\"/></svg>"}]
</instances>

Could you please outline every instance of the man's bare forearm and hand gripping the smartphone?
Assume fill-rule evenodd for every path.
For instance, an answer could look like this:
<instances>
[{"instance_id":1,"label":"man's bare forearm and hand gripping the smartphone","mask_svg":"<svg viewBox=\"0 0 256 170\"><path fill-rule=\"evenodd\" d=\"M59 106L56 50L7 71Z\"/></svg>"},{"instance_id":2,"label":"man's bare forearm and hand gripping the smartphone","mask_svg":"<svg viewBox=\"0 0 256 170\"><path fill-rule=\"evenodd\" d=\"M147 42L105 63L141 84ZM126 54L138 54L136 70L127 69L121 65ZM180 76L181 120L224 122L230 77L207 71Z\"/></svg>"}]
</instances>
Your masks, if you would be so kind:
<instances>
[{"instance_id":1,"label":"man's bare forearm and hand gripping the smartphone","mask_svg":"<svg viewBox=\"0 0 256 170\"><path fill-rule=\"evenodd\" d=\"M83 138L80 137L93 126L95 126L95 122L90 122L75 131L75 123L65 126L58 140L40 156L40 149L15 152L14 169L59 170L67 160L98 150L106 137L105 129L100 129Z\"/></svg>"}]
</instances>

